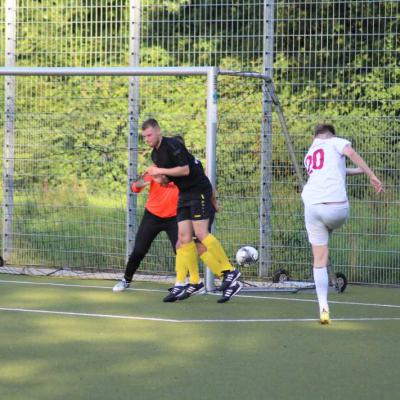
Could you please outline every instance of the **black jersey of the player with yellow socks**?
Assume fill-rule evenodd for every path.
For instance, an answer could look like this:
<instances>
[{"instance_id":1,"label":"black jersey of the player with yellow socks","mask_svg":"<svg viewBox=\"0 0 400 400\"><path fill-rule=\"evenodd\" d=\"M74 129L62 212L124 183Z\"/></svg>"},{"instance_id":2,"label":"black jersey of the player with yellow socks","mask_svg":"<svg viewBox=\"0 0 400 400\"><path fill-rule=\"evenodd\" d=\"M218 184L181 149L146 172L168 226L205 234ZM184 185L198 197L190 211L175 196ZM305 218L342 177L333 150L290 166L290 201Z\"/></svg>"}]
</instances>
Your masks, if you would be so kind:
<instances>
[{"instance_id":1,"label":"black jersey of the player with yellow socks","mask_svg":"<svg viewBox=\"0 0 400 400\"><path fill-rule=\"evenodd\" d=\"M160 147L153 149L151 159L159 168L174 168L189 165L189 175L168 176L180 192L212 191L210 180L201 163L176 139L163 137Z\"/></svg>"}]
</instances>

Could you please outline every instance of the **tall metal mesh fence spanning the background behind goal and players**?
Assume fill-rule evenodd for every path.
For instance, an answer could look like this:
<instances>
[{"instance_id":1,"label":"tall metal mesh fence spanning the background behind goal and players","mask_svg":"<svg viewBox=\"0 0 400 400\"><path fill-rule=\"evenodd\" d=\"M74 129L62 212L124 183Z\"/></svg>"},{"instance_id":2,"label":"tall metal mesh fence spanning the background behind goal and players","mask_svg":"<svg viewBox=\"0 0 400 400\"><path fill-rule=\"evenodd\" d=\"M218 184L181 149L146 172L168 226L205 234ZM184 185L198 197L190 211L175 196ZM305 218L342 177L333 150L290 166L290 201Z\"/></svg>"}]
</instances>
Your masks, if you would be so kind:
<instances>
[{"instance_id":1,"label":"tall metal mesh fence spanning the background behind goal and players","mask_svg":"<svg viewBox=\"0 0 400 400\"><path fill-rule=\"evenodd\" d=\"M377 197L365 177L349 180L351 219L332 238L335 269L354 282L400 282L399 2L0 4L1 65L7 7L14 4L17 66L216 65L273 74L300 164L313 126L332 122L385 184ZM3 90L4 78L0 83ZM140 78L136 109L129 85L125 78L17 79L14 263L123 268L132 113L136 126L154 116L166 134L183 134L204 160L201 79ZM244 270L246 278L285 269L303 279L311 259L298 185L275 114L265 128L265 100L256 79L219 78L217 236L232 259L243 244L260 250L264 266ZM5 118L2 113L2 132ZM139 141L139 170L148 162L146 150ZM138 197L134 229L143 200ZM173 271L166 237L155 242L143 268Z\"/></svg>"}]
</instances>

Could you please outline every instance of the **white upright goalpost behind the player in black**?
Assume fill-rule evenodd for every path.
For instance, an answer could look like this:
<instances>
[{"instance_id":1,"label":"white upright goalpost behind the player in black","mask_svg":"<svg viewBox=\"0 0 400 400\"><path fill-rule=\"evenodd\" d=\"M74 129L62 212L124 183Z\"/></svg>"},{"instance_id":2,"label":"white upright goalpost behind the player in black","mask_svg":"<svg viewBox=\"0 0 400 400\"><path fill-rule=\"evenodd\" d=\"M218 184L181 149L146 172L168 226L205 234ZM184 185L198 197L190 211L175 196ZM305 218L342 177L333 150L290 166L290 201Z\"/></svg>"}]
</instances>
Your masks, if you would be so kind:
<instances>
[{"instance_id":1,"label":"white upright goalpost behind the player in black","mask_svg":"<svg viewBox=\"0 0 400 400\"><path fill-rule=\"evenodd\" d=\"M206 168L213 188L215 188L217 169L217 74L217 68L212 68L207 73ZM214 231L214 226L212 231ZM214 289L214 274L208 268L206 270L206 289L208 292Z\"/></svg>"}]
</instances>

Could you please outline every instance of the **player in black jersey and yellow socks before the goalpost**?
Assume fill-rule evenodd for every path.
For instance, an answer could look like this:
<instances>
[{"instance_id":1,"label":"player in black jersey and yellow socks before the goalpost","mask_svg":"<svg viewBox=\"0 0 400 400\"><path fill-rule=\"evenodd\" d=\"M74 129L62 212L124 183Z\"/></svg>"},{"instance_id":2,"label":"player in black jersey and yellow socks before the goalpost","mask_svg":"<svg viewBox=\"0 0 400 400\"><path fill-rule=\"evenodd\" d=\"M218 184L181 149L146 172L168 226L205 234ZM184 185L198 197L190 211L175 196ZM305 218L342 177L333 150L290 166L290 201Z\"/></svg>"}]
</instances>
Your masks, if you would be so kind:
<instances>
[{"instance_id":1,"label":"player in black jersey and yellow socks before the goalpost","mask_svg":"<svg viewBox=\"0 0 400 400\"><path fill-rule=\"evenodd\" d=\"M209 179L201 164L179 140L162 136L156 120L149 119L143 123L142 135L153 148L151 158L155 165L149 167L147 173L166 175L179 189L177 221L180 247L176 251L176 284L164 301L188 298L204 287L200 282L193 232L207 249L201 259L222 278L223 295L218 302L230 300L242 288L242 283L238 281L240 272L231 265L220 242L208 229L213 193ZM187 270L190 282L185 286Z\"/></svg>"}]
</instances>

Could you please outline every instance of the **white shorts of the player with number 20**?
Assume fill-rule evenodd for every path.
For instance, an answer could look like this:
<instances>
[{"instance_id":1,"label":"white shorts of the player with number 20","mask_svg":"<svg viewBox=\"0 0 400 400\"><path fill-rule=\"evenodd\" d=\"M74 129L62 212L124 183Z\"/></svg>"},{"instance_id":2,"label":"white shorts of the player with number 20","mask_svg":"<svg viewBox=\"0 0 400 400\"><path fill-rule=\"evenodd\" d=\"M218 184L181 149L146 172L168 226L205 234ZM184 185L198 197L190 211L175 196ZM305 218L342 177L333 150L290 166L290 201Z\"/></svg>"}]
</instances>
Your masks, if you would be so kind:
<instances>
[{"instance_id":1,"label":"white shorts of the player with number 20","mask_svg":"<svg viewBox=\"0 0 400 400\"><path fill-rule=\"evenodd\" d=\"M340 228L349 216L349 203L305 204L304 221L311 244L328 244L329 234Z\"/></svg>"}]
</instances>

